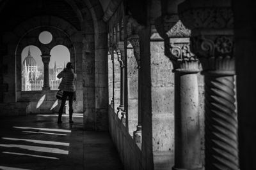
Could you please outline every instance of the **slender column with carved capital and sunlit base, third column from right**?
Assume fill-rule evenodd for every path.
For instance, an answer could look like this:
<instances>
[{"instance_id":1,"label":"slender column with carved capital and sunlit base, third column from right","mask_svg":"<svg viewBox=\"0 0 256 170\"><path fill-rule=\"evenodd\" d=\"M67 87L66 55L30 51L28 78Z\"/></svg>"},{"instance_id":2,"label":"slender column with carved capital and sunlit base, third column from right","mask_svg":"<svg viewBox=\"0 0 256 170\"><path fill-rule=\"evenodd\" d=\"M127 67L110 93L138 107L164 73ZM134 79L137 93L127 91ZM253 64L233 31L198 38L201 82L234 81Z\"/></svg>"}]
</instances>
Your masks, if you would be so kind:
<instances>
[{"instance_id":1,"label":"slender column with carved capital and sunlit base, third column from right","mask_svg":"<svg viewBox=\"0 0 256 170\"><path fill-rule=\"evenodd\" d=\"M141 64L140 64L140 38L138 34L129 36L134 51L134 57L138 63L138 125L133 132L133 139L136 143L141 143Z\"/></svg>"}]
</instances>

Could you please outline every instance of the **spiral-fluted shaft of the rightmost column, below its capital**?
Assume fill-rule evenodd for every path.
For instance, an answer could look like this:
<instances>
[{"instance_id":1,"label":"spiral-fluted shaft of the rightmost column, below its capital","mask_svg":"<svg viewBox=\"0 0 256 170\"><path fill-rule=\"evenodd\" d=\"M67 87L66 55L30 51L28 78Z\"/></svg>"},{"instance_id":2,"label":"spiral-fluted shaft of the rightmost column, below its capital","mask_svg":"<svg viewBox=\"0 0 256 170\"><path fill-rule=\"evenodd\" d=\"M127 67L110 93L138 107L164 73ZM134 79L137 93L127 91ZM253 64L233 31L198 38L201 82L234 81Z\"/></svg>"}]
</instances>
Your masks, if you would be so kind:
<instances>
[{"instance_id":1,"label":"spiral-fluted shaft of the rightmost column, below its capital","mask_svg":"<svg viewBox=\"0 0 256 170\"><path fill-rule=\"evenodd\" d=\"M234 76L205 75L205 169L239 169Z\"/></svg>"}]
</instances>

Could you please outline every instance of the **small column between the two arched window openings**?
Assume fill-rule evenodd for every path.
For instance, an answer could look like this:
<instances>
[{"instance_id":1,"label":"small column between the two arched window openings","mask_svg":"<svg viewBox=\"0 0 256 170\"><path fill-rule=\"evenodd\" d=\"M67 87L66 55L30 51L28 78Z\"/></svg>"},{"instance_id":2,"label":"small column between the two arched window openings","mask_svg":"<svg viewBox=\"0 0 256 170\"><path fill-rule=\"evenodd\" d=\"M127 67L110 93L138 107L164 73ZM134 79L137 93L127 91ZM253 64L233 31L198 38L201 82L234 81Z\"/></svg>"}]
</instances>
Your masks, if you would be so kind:
<instances>
[{"instance_id":1,"label":"small column between the two arched window openings","mask_svg":"<svg viewBox=\"0 0 256 170\"><path fill-rule=\"evenodd\" d=\"M51 55L43 54L41 55L42 61L44 63L44 87L43 90L51 90L49 85L49 62Z\"/></svg>"}]
</instances>

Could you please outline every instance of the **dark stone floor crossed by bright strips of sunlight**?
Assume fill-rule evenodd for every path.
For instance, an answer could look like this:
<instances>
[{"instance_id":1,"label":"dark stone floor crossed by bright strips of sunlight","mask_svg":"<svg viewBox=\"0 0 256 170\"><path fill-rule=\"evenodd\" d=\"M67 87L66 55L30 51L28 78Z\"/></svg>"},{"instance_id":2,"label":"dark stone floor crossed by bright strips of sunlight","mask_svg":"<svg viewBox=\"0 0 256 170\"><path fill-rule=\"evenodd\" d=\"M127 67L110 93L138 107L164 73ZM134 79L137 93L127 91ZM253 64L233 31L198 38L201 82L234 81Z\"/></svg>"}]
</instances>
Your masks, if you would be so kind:
<instances>
[{"instance_id":1,"label":"dark stone floor crossed by bright strips of sunlight","mask_svg":"<svg viewBox=\"0 0 256 170\"><path fill-rule=\"evenodd\" d=\"M56 124L57 115L0 118L0 169L123 169L108 132L83 131L83 115L74 124Z\"/></svg>"}]
</instances>

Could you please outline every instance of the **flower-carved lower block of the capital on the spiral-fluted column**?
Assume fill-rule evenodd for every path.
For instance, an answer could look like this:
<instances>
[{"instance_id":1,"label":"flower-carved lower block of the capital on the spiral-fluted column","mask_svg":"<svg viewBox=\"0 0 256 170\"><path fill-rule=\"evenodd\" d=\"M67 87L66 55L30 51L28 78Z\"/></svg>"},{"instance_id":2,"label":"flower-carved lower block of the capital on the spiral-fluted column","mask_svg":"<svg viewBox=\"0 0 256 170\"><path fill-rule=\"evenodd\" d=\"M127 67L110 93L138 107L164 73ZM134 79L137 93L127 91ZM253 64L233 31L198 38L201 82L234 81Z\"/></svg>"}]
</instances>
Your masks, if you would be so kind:
<instances>
[{"instance_id":1,"label":"flower-carved lower block of the capital on the spiral-fluted column","mask_svg":"<svg viewBox=\"0 0 256 170\"><path fill-rule=\"evenodd\" d=\"M200 56L204 71L234 74L232 36L196 36L191 38L193 51Z\"/></svg>"}]
</instances>

